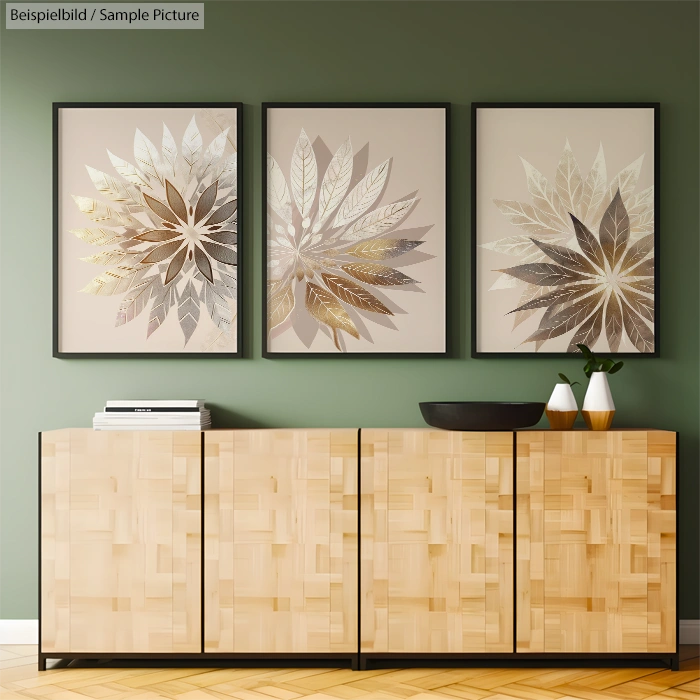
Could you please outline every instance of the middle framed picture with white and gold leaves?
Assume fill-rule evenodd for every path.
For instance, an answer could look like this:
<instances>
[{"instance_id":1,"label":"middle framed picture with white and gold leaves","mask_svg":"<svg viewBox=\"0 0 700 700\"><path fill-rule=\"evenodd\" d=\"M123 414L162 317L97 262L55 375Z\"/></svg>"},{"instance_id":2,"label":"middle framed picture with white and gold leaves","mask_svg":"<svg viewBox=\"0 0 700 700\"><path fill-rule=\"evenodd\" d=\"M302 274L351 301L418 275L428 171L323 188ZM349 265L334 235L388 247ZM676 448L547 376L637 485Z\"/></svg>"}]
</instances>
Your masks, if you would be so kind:
<instances>
[{"instance_id":1,"label":"middle framed picture with white and gold leaves","mask_svg":"<svg viewBox=\"0 0 700 700\"><path fill-rule=\"evenodd\" d=\"M449 105L263 105L264 357L447 354Z\"/></svg>"}]
</instances>

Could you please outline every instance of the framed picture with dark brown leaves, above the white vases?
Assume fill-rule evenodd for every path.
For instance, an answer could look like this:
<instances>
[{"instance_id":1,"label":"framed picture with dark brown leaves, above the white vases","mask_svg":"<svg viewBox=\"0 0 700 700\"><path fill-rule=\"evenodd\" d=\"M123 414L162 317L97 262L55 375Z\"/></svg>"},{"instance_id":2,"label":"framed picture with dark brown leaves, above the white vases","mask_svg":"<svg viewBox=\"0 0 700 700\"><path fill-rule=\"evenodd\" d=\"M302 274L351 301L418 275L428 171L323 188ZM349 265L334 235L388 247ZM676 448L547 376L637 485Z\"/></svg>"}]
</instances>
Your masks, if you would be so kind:
<instances>
[{"instance_id":1,"label":"framed picture with dark brown leaves, above the white vases","mask_svg":"<svg viewBox=\"0 0 700 700\"><path fill-rule=\"evenodd\" d=\"M472 105L472 356L658 357L659 105Z\"/></svg>"}]
</instances>

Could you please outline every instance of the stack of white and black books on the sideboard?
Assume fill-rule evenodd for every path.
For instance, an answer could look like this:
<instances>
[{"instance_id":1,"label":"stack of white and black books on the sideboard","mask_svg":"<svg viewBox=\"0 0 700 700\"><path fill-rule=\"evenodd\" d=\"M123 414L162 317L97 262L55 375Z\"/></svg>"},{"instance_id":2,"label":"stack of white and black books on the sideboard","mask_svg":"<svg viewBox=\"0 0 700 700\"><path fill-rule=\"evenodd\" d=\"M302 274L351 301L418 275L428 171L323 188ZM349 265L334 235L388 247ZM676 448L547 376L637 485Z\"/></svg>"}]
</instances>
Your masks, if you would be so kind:
<instances>
[{"instance_id":1,"label":"stack of white and black books on the sideboard","mask_svg":"<svg viewBox=\"0 0 700 700\"><path fill-rule=\"evenodd\" d=\"M204 401L107 401L92 419L95 430L207 430L211 414Z\"/></svg>"}]
</instances>

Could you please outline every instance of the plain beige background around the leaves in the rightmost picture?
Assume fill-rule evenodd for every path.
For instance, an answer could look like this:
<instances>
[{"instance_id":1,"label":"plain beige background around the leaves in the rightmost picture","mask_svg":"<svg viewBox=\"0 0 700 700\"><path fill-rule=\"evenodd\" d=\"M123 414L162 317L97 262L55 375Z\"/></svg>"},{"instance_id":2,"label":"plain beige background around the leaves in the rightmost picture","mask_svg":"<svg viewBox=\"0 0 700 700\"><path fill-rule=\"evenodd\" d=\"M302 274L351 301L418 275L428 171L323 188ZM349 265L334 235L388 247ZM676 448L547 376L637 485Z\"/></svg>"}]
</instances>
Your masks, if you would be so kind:
<instances>
[{"instance_id":1,"label":"plain beige background around the leaves in the rightmost picture","mask_svg":"<svg viewBox=\"0 0 700 700\"><path fill-rule=\"evenodd\" d=\"M600 144L603 145L608 182L644 154L635 192L654 183L654 111L650 108L480 108L477 111L477 221L476 243L497 241L524 233L513 226L494 199L531 203L520 158L537 168L554 185L554 177L566 141L585 179ZM597 227L593 231L597 236ZM575 246L575 243L572 244ZM513 317L524 289L489 291L499 269L520 264L509 255L477 247L477 351L534 352L535 344L523 341L538 326L544 309L513 329ZM540 353L566 352L575 330L544 343ZM601 334L597 351L607 350ZM618 352L636 352L625 335Z\"/></svg>"}]
</instances>

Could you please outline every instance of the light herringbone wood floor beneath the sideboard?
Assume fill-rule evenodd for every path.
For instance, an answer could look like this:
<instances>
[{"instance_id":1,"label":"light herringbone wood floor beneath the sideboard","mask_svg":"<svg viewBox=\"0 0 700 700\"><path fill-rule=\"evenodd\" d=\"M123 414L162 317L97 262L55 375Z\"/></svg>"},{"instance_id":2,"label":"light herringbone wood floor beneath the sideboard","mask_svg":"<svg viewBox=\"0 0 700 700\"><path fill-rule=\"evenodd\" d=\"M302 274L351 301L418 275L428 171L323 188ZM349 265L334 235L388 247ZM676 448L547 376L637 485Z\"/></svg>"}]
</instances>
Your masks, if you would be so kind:
<instances>
[{"instance_id":1,"label":"light herringbone wood floor beneath the sideboard","mask_svg":"<svg viewBox=\"0 0 700 700\"><path fill-rule=\"evenodd\" d=\"M681 670L67 668L37 671L36 647L0 646L0 698L41 700L700 700L700 647Z\"/></svg>"}]
</instances>

